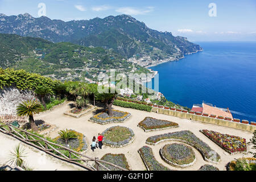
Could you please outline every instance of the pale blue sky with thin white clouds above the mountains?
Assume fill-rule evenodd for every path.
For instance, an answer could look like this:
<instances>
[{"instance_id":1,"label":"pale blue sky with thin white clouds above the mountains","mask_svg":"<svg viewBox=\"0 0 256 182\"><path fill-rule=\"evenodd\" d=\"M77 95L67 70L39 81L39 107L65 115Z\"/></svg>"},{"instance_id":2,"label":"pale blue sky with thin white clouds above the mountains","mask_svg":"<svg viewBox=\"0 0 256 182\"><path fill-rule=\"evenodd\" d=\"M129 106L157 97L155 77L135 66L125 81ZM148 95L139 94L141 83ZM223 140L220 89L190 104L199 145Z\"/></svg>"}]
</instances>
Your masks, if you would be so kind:
<instances>
[{"instance_id":1,"label":"pale blue sky with thin white clouds above the mountains","mask_svg":"<svg viewBox=\"0 0 256 182\"><path fill-rule=\"evenodd\" d=\"M255 0L0 0L0 13L29 13L64 21L129 14L154 30L172 32L191 41L256 41ZM216 16L209 16L209 4Z\"/></svg>"}]
</instances>

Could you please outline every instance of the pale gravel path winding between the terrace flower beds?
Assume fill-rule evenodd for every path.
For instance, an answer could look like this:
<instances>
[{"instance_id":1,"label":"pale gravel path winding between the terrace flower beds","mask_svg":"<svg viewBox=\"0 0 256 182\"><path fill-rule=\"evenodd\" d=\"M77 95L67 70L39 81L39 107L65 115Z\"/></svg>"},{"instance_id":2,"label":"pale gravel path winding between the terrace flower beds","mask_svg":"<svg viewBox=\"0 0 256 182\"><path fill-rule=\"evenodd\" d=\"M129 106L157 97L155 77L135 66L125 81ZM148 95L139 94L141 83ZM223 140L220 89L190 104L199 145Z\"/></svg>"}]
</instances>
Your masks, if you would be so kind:
<instances>
[{"instance_id":1,"label":"pale gravel path winding between the terrace flower beds","mask_svg":"<svg viewBox=\"0 0 256 182\"><path fill-rule=\"evenodd\" d=\"M146 139L148 137L151 137L153 135L159 135L164 133L170 133L174 131L182 131L182 130L190 130L192 131L197 137L199 137L201 140L203 140L205 143L207 143L214 151L218 152L221 156L221 162L218 164L213 164L213 166L218 167L220 170L225 170L225 165L230 162L231 160L234 160L235 158L241 158L242 154L236 154L236 155L229 155L227 152L222 150L222 148L218 147L217 144L212 142L210 139L205 137L204 134L200 133L199 130L202 129L208 129L213 131L218 131L220 133L224 134L230 134L230 135L236 135L238 137L246 138L246 141L249 141L249 139L253 136L252 133L242 130L236 130L236 129L230 129L227 127L217 126L217 125L210 125L207 123L201 123L201 122L195 122L190 121L188 119L181 119L177 117L172 117L170 115L164 115L164 114L158 114L158 113L148 113L146 111L140 111L135 109L129 109L129 108L123 108L118 106L113 106L116 110L121 111L127 111L131 113L131 117L127 119L124 123L109 123L107 125L100 125L98 123L93 123L88 121L91 117L93 117L92 111L89 113L83 115L81 118L72 118L67 115L64 115L64 111L68 110L68 104L71 102L68 102L65 105L61 105L57 107L55 110L45 113L45 114L39 114L35 115L35 119L43 119L47 123L55 124L58 129L53 131L49 134L51 138L57 137L57 132L63 129L72 129L76 130L82 134L85 135L88 146L92 143L93 136L97 137L98 133L102 133L104 130L108 129L112 126L125 126L129 127L134 131L135 134L135 140L133 143L129 144L128 146L125 146L123 148L111 148L108 146L103 146L102 150L99 148L96 148L94 152L90 150L90 147L88 148L88 151L85 152L86 155L92 156L92 157L98 157L101 158L105 154L112 153L112 154L125 154L127 158L127 162L129 163L129 166L133 170L145 170L146 167L144 166L141 157L138 154L139 148L141 148L146 144ZM164 119L167 121L173 121L179 124L180 127L178 128L172 128L167 130L160 130L160 131L152 131L150 133L145 133L141 128L139 128L137 125L139 122L141 122L145 117L153 117L156 119ZM159 150L161 147L163 147L167 143L177 143L177 142L162 142L157 144L156 146L150 146L154 152L156 160L158 160L159 163L162 163L164 166L170 168L170 169L176 169L176 170L197 170L204 164L211 164L208 162L205 162L201 154L193 148L193 151L195 151L196 154L196 163L188 168L175 168L170 166L169 164L165 163L162 158L159 155ZM250 154L244 155L245 157L251 156Z\"/></svg>"}]
</instances>

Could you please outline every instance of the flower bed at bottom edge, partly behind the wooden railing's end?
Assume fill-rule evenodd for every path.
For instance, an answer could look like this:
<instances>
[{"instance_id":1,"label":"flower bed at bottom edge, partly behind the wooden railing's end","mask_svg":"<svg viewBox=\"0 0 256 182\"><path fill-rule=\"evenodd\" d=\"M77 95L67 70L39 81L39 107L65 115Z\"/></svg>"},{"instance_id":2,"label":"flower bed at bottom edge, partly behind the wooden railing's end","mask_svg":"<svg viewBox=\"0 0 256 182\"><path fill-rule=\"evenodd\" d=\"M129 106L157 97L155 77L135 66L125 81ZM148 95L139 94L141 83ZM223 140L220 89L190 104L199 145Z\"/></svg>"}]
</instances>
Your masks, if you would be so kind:
<instances>
[{"instance_id":1,"label":"flower bed at bottom edge, partly behind the wooden railing's end","mask_svg":"<svg viewBox=\"0 0 256 182\"><path fill-rule=\"evenodd\" d=\"M124 154L105 154L101 160L104 160L106 162L115 164L119 167L125 168L127 170L130 170L130 167L127 163L126 157ZM121 171L121 169L110 166L109 164L101 163L103 166L110 169L110 171ZM100 171L107 171L106 168L99 166Z\"/></svg>"}]
</instances>

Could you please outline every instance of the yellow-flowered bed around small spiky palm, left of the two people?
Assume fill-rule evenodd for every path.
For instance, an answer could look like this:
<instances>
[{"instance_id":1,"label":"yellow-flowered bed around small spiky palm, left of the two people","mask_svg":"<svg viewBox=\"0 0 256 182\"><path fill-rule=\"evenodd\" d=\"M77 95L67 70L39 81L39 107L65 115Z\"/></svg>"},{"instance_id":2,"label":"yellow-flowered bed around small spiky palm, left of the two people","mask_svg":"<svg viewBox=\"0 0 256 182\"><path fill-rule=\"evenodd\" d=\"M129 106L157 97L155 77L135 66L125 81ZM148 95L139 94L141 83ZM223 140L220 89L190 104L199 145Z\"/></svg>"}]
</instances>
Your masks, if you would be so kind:
<instances>
[{"instance_id":1,"label":"yellow-flowered bed around small spiky palm, left of the two people","mask_svg":"<svg viewBox=\"0 0 256 182\"><path fill-rule=\"evenodd\" d=\"M68 130L68 131L74 131L74 130ZM77 138L68 140L68 144L69 144L68 148L71 148L72 150L75 150L77 152L87 150L88 146L85 140L85 136L76 131L74 131L74 133L77 135ZM56 142L57 144L61 144L62 146L67 147L65 144L65 140L61 139L60 136L53 139L53 142Z\"/></svg>"}]
</instances>

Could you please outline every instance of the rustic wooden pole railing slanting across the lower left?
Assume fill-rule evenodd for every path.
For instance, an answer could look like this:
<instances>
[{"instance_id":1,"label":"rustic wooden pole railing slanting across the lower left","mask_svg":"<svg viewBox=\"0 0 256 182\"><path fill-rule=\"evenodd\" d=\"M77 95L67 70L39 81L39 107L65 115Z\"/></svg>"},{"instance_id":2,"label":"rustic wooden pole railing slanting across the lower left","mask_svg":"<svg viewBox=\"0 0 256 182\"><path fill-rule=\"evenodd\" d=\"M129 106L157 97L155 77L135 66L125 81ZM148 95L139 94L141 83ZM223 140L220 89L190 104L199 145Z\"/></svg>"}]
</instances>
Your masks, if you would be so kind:
<instances>
[{"instance_id":1,"label":"rustic wooden pole railing slanting across the lower left","mask_svg":"<svg viewBox=\"0 0 256 182\"><path fill-rule=\"evenodd\" d=\"M104 166L104 164L113 166L122 171L128 171L127 169L119 167L115 164L106 162L104 160L100 160L98 158L92 158L84 154L81 154L79 152L76 152L74 150L71 150L68 147L61 146L60 144L49 142L45 138L39 137L38 135L32 134L26 130L19 129L18 127L10 125L10 123L0 122L0 131L4 134L11 135L16 139L19 139L20 141L26 144L29 144L30 146L38 148L39 150L42 150L47 154L54 156L55 158L64 160L65 162L75 164L89 171L99 171L100 167L110 171L110 169ZM64 155L60 151L66 151L68 156ZM72 158L71 157L72 155L75 156L76 158ZM89 164L89 162L91 162L92 164ZM94 163L94 166L93 166L93 163Z\"/></svg>"}]
</instances>

